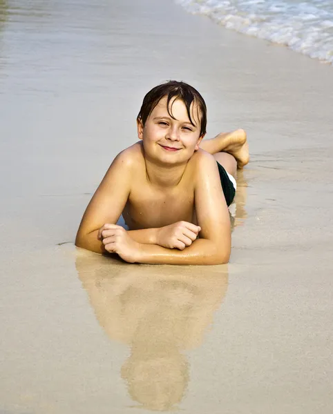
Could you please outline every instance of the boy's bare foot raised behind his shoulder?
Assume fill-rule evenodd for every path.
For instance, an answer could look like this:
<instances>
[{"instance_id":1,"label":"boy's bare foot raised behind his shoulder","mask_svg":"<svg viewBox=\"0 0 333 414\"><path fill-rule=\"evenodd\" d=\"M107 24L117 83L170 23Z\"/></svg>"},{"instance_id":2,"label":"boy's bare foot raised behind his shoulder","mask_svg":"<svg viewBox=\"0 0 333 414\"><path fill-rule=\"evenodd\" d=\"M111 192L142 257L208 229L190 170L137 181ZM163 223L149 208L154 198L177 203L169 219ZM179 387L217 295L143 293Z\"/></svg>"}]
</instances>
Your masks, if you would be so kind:
<instances>
[{"instance_id":1,"label":"boy's bare foot raised behind his shoulder","mask_svg":"<svg viewBox=\"0 0 333 414\"><path fill-rule=\"evenodd\" d=\"M249 162L249 144L245 130L238 129L227 134L222 133L218 137L221 139L223 152L228 152L237 161L237 168L243 168Z\"/></svg>"}]
</instances>

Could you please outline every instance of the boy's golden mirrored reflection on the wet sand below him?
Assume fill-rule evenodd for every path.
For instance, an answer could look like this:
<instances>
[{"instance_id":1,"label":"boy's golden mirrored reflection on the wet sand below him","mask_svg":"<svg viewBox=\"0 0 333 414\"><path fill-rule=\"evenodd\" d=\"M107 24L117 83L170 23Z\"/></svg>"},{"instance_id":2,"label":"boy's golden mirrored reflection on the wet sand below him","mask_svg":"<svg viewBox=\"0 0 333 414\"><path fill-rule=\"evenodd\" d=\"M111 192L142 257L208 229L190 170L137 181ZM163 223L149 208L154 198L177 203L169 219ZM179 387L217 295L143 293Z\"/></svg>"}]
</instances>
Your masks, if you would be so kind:
<instances>
[{"instance_id":1,"label":"boy's golden mirrored reflection on the wet sand below him","mask_svg":"<svg viewBox=\"0 0 333 414\"><path fill-rule=\"evenodd\" d=\"M77 272L99 324L131 355L121 370L132 399L151 410L178 404L189 383L183 351L199 346L227 291L227 266L122 264L84 250Z\"/></svg>"}]
</instances>

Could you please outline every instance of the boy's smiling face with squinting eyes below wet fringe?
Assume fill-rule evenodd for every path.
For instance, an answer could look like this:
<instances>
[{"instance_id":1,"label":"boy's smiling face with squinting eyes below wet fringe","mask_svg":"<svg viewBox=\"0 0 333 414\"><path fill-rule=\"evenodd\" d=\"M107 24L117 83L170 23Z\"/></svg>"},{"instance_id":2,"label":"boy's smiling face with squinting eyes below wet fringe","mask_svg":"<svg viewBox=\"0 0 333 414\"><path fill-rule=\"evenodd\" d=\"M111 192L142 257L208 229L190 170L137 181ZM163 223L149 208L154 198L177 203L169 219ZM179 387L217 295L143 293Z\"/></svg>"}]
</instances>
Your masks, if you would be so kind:
<instances>
[{"instance_id":1,"label":"boy's smiling face with squinting eyes below wet fringe","mask_svg":"<svg viewBox=\"0 0 333 414\"><path fill-rule=\"evenodd\" d=\"M167 97L163 97L146 119L146 124L137 123L137 135L144 141L147 157L163 164L182 164L191 158L203 136L200 137L200 112L196 103L192 103L190 109L195 126L189 120L183 101L171 99L169 112L175 117L173 119L167 110Z\"/></svg>"}]
</instances>

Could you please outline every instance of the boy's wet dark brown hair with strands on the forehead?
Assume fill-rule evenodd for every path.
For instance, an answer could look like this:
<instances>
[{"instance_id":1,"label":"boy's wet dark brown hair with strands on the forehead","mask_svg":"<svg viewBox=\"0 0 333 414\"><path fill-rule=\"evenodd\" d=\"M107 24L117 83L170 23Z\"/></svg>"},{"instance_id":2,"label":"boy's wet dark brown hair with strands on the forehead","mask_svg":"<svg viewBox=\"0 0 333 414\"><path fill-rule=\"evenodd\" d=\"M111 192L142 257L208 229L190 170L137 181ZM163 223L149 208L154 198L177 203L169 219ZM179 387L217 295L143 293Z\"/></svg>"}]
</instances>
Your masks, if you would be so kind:
<instances>
[{"instance_id":1,"label":"boy's wet dark brown hair with strands on the forehead","mask_svg":"<svg viewBox=\"0 0 333 414\"><path fill-rule=\"evenodd\" d=\"M197 110L198 110L198 119L200 119L200 137L206 133L206 126L207 126L207 107L206 103L204 102L204 99L196 90L193 88L193 86L188 85L184 82L178 82L178 81L167 81L165 83L162 83L161 85L155 86L152 90L149 90L149 92L144 97L144 100L142 102L142 106L139 112L139 115L137 115L137 121L142 122L142 125L146 123L146 120L148 119L149 115L151 115L151 112L155 108L155 106L160 102L160 100L163 97L167 97L167 110L169 112L169 115L171 118L175 119L172 115L172 105L171 108L169 108L169 103L173 97L176 99L180 99L184 102L186 108L187 108L187 115L189 116L189 120L191 121L191 124L193 126L196 126L193 123L191 116L191 103L197 104ZM194 106L192 108L192 112L194 110Z\"/></svg>"}]
</instances>

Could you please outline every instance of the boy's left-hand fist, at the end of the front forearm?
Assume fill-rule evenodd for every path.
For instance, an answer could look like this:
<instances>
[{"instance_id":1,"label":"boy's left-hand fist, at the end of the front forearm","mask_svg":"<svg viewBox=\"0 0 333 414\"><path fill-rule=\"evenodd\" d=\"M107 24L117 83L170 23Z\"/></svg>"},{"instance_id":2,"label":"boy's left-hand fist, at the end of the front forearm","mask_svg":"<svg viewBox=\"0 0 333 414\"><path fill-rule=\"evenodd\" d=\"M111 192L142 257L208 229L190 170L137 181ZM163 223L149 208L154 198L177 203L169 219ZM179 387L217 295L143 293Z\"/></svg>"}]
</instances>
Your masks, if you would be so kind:
<instances>
[{"instance_id":1,"label":"boy's left-hand fist, at the end of the front forearm","mask_svg":"<svg viewBox=\"0 0 333 414\"><path fill-rule=\"evenodd\" d=\"M135 263L140 256L140 244L135 242L124 228L116 224L104 224L99 228L99 240L102 240L108 253L117 253L125 262Z\"/></svg>"}]
</instances>

